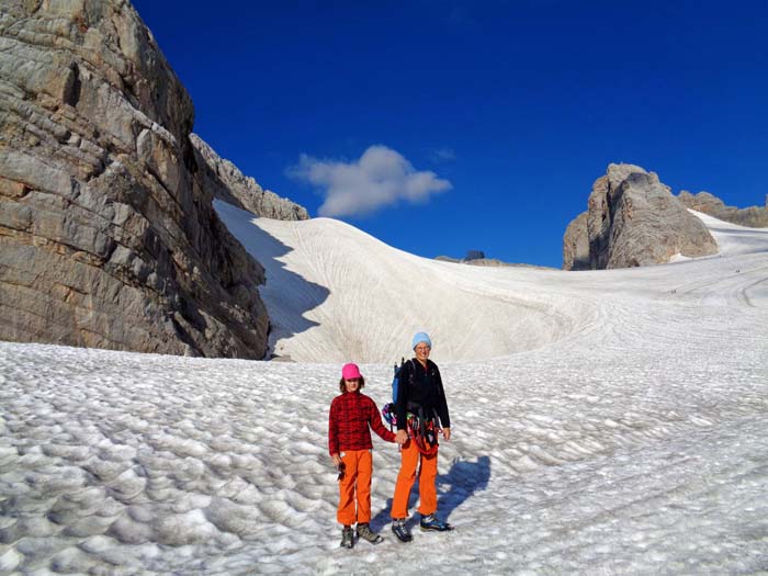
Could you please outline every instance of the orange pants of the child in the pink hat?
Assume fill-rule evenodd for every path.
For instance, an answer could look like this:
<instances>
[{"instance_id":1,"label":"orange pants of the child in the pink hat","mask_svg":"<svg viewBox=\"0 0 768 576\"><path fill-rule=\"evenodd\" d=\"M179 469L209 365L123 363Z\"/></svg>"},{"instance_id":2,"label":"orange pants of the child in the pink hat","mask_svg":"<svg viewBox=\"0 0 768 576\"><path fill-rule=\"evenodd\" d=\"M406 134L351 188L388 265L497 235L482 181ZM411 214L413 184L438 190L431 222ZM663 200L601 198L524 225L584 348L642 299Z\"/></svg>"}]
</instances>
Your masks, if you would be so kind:
<instances>
[{"instance_id":1,"label":"orange pants of the child in the pink hat","mask_svg":"<svg viewBox=\"0 0 768 576\"><path fill-rule=\"evenodd\" d=\"M339 481L339 508L336 519L340 524L371 521L371 474L373 455L370 450L345 450L345 477ZM354 504L358 504L357 513Z\"/></svg>"}]
</instances>

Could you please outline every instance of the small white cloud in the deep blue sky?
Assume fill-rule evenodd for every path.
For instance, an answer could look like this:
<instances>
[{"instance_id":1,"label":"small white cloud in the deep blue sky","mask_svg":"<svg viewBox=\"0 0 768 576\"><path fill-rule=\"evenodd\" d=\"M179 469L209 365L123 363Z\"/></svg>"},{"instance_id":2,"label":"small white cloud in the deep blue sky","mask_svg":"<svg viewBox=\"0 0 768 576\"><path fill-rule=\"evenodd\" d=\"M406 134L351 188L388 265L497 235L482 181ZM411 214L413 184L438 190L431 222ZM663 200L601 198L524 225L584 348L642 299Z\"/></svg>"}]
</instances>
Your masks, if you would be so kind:
<instances>
[{"instance_id":1,"label":"small white cloud in the deep blue sky","mask_svg":"<svg viewBox=\"0 0 768 576\"><path fill-rule=\"evenodd\" d=\"M353 162L302 155L289 174L320 189L325 196L320 216L371 214L400 200L423 203L452 188L448 180L417 171L402 154L381 145L371 146Z\"/></svg>"}]
</instances>

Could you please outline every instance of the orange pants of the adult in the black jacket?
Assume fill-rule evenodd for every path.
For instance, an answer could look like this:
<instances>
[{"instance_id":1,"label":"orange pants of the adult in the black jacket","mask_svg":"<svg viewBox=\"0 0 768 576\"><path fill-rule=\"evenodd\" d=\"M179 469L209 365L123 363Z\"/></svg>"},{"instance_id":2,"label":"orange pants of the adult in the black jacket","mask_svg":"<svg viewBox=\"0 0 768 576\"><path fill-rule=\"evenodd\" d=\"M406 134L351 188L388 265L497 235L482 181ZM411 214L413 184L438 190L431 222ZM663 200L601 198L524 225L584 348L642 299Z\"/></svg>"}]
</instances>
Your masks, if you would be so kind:
<instances>
[{"instance_id":1,"label":"orange pants of the adult in the black jacket","mask_svg":"<svg viewBox=\"0 0 768 576\"><path fill-rule=\"evenodd\" d=\"M416 479L416 467L421 460L419 471L419 508L421 515L434 513L438 509L438 488L434 481L438 476L438 453L431 456L421 455L416 442L409 439L400 450L400 472L397 474L395 497L392 499L392 518L408 516L408 497Z\"/></svg>"}]
</instances>

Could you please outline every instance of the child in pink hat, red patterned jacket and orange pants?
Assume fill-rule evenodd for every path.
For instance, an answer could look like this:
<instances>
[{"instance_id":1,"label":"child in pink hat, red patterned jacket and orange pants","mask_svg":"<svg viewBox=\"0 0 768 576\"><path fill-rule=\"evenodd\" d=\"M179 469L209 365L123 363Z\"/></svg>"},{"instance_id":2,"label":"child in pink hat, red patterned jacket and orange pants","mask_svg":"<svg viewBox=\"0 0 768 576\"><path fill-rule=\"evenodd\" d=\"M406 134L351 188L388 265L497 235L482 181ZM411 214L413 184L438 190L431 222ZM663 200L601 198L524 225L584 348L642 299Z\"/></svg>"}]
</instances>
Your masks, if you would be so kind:
<instances>
[{"instance_id":1,"label":"child in pink hat, red patterned jacket and orange pants","mask_svg":"<svg viewBox=\"0 0 768 576\"><path fill-rule=\"evenodd\" d=\"M339 382L341 395L330 404L328 418L328 451L334 465L339 470L339 509L336 518L343 526L343 547L354 545L352 524L355 521L358 538L372 544L383 541L369 526L373 472L373 444L369 426L387 442L394 442L395 434L384 428L376 404L360 393L364 385L365 380L357 364L345 364Z\"/></svg>"}]
</instances>

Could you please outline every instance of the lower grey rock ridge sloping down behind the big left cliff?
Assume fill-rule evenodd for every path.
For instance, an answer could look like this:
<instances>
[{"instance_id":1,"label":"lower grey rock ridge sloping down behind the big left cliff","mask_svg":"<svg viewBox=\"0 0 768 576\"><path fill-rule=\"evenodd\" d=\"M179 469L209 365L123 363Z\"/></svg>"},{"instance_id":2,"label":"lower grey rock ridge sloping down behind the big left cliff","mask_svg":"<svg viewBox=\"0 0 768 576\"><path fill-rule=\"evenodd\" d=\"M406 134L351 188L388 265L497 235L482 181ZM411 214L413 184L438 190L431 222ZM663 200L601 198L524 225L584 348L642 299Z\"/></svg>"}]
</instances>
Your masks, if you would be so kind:
<instances>
[{"instance_id":1,"label":"lower grey rock ridge sloping down behind the big left cliff","mask_svg":"<svg viewBox=\"0 0 768 576\"><path fill-rule=\"evenodd\" d=\"M244 176L229 160L221 158L200 136L190 136L194 147L195 159L202 167L205 188L213 190L214 195L247 210L257 216L280 221L305 221L309 214L287 199L281 199L274 192L263 190L256 180Z\"/></svg>"}]
</instances>

